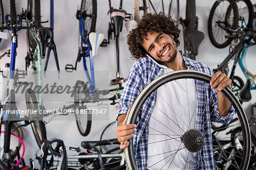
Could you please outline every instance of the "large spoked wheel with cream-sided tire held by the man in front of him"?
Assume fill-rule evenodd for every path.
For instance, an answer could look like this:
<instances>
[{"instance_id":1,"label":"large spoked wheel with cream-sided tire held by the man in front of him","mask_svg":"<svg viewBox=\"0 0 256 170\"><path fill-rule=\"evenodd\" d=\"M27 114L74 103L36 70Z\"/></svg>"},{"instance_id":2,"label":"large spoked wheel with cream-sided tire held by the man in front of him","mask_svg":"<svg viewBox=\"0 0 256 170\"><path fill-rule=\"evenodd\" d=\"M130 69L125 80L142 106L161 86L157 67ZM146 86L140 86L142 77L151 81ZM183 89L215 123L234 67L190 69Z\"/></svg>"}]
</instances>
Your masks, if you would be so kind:
<instances>
[{"instance_id":1,"label":"large spoked wheel with cream-sided tire held by the man in front of him","mask_svg":"<svg viewBox=\"0 0 256 170\"><path fill-rule=\"evenodd\" d=\"M246 169L247 168L247 165L248 165L249 159L250 159L250 130L249 130L249 125L248 125L248 122L247 122L247 119L246 119L246 115L245 115L245 113L242 109L242 106L237 101L237 98L234 96L234 94L231 92L231 90L229 90L228 88L223 89L222 93L224 93L224 95L232 103L232 105L233 105L233 107L236 111L235 116L237 116L238 120L240 121L238 123L238 125L241 125L241 127L242 127L242 137L243 137L242 156L238 156L238 155L234 154L232 151L224 151L225 155L228 155L228 156L221 155L218 152L217 148L222 148L222 151L223 151L224 146L218 146L218 144L217 145L213 144L213 140L209 140L209 138L211 138L211 135L209 136L208 139L205 138L205 134L206 134L205 132L210 132L210 128L206 128L206 129L203 130L203 128L205 128L205 126L208 126L208 125L210 126L209 117L211 116L211 114L209 115L209 113L208 113L208 116L207 116L204 113L205 109L207 109L207 105L209 104L209 101L207 101L208 99L205 99L205 103L200 103L201 106L205 106L204 109L202 108L203 109L202 113L197 113L197 115L193 114L192 117L188 118L189 120L191 120L191 119L194 118L194 116L196 116L195 120L199 121L199 119L202 118L202 119L205 119L205 122L208 119L208 122L209 122L208 125L205 125L205 122L203 120L203 121L201 121L201 123L203 123L203 124L202 125L200 124L201 127L197 126L196 129L195 128L194 129L190 128L190 125L193 122L191 122L191 121L189 121L187 123L183 122L183 121L185 121L185 119L183 119L185 117L184 113L182 113L183 110L180 111L181 112L180 114L183 114L183 115L178 115L177 113L174 113L175 115L173 115L173 116L176 117L175 119L170 119L167 116L168 112L170 112L170 110L173 110L172 109L173 107L171 107L172 105L171 105L170 101L174 101L174 99L179 99L180 96L176 96L175 98L172 98L172 100L170 100L171 98L169 97L170 99L168 101L164 102L164 103L167 103L167 105L165 104L167 108L165 109L165 108L162 107L163 110L159 110L159 114L163 113L163 118L167 119L168 125L170 125L170 126L164 125L163 124L164 122L162 122L160 119L159 119L159 122L158 122L158 119L152 117L152 115L148 119L149 120L150 119L155 119L156 120L155 122L156 123L158 122L158 124L159 124L159 125L153 125L154 127L159 127L159 128L155 128L155 129L152 128L151 129L152 131L154 130L155 132L152 132L151 134L148 133L152 124L151 125L150 125L150 123L146 123L146 125L143 124L143 123L141 124L141 120L145 119L145 117L143 117L143 115L140 114L141 110L142 110L142 107L143 107L143 109L145 109L145 107L143 106L144 102L152 102L152 105L154 105L154 107L157 109L157 106L155 105L156 102L152 101L151 94L156 93L157 94L156 98L161 97L161 96L159 96L159 92L158 92L158 89L160 87L166 88L166 85L168 85L170 83L176 85L177 81L179 81L181 79L183 79L183 80L185 79L185 81L186 81L185 84L187 84L187 81L192 79L192 80L195 80L196 84L201 84L204 87L203 89L201 89L201 90L203 90L202 93L208 93L209 92L208 89L210 88L210 85L209 85L210 78L211 78L211 76L209 76L208 74L205 74L205 73L202 73L202 72L197 72L197 71L170 72L170 73L164 74L163 76L160 76L159 78L156 78L154 81L152 81L150 84L148 84L146 86L146 88L144 88L144 90L142 90L142 92L139 94L139 96L135 100L133 106L131 107L130 113L129 113L128 118L127 118L127 124L135 123L135 124L137 124L137 127L138 126L143 126L145 128L148 127L148 130L147 131L144 131L144 130L140 131L140 130L137 129L137 132L136 132L137 135L134 137L134 138L136 138L136 140L134 140L133 138L129 139L129 143L130 143L129 147L127 147L126 150L125 150L126 163L127 163L129 169L138 169L137 157L135 157L136 154L134 153L134 151L142 149L142 148L139 148L139 147L142 147L144 145L144 143L139 143L139 141L148 138L149 135L152 135L153 136L152 138L155 138L155 137L159 138L158 136L160 136L160 135L162 135L166 138L165 140L159 140L159 141L156 141L154 143L154 144L158 143L159 144L158 147L163 146L163 148L161 149L161 150L163 150L163 152L159 152L159 153L156 152L155 155L147 155L148 152L146 152L146 156L138 154L138 157L142 157L143 160L144 159L147 160L148 157L153 157L154 156L154 158L155 158L155 164L154 165L156 165L157 163L161 162L161 160L160 160L160 157L162 158L161 155L166 154L165 161L167 161L167 163L163 165L163 169L167 169L168 167L172 168L172 162L175 161L174 160L175 155L183 149L184 149L183 152L187 153L184 157L184 159L186 159L186 157L187 157L187 161L188 161L188 156L187 155L189 153L191 153L191 152L196 153L196 156L199 157L199 158L198 158L198 160L195 160L195 161L196 161L196 165L197 165L197 163L200 163L199 164L199 167L201 167L200 169L206 169L206 168L222 169L213 160L213 152L214 152L214 154L217 154L218 156L221 157L221 159L222 159L221 164L222 165L224 165L225 163L230 163L230 167L229 167L230 169ZM165 92L166 91L167 90L165 90ZM212 90L210 90L210 91L212 91ZM187 92L184 92L184 93L187 95L190 92L188 93L188 91L187 91ZM167 98L168 98L168 96L170 94L166 93L164 95L167 95ZM197 97L200 97L200 95L201 94L197 94ZM208 93L207 95L209 95L208 98L210 98L211 94ZM200 102L201 102L201 100L200 100ZM196 106L197 106L197 104L199 104L199 103L196 103ZM185 111L187 111L187 110L185 110ZM165 111L167 111L167 113ZM195 113L195 111L196 110L194 110L194 111L192 110L192 113ZM189 110L188 110L188 113L189 113ZM191 115L191 114L189 114L189 115ZM171 116L171 115L169 114L169 116ZM159 117L160 117L160 115L159 115ZM188 116L186 116L186 117L188 117ZM215 118L216 120L212 121L212 124L214 125L214 123L217 123L218 119L220 119L220 118L221 118L221 115L216 117ZM183 129L185 129L184 127L179 127L181 122L184 123L185 128L187 128L188 131L184 131L183 130ZM179 128L177 130L179 132L177 132L176 135L172 137L170 134L172 134L174 126ZM232 127L236 127L236 126L237 125L233 125ZM168 133L163 133L162 132L162 131L164 131L164 128L165 128L165 130L168 130ZM201 136L201 140L200 140L201 142L197 142L197 144L195 144L195 141L200 138L199 137L200 135L191 135L193 133L201 134L202 136L204 134L203 138ZM143 135L146 135L146 137L142 138ZM187 138L187 135L189 136L188 138ZM226 138L227 138L226 135L224 135L224 137L223 136L222 137L217 136L218 141L226 139ZM228 136L228 138L230 139L230 136ZM168 151L168 150L164 149L164 148L166 148L166 146L170 146L170 144L171 144L171 146L173 146L173 144L175 142L178 142L180 144L174 150ZM153 143L147 143L147 147L150 144L153 144ZM194 150L200 144L201 144L201 148L202 147L204 149L208 148L210 150L210 152L212 152L212 153L207 154L209 157L204 156L206 150L201 151L201 148L197 148L197 150ZM134 147L134 146L136 146L136 147ZM234 146L230 146L230 147L232 148ZM192 149L192 148L194 148L194 149ZM158 148L156 148L156 150L158 151ZM208 152L209 150L207 150L206 152ZM144 152L143 152L143 154L144 154ZM210 155L212 156L212 158L210 158ZM232 157L232 159L229 159L229 156ZM233 160L234 157L235 157L235 159ZM237 157L239 159L236 159ZM177 159L180 159L180 158L178 157ZM190 159L190 157L189 157L189 159ZM162 160L164 160L164 159L162 159ZM180 160L178 160L178 161L180 161ZM186 163L186 165L190 165L190 164L187 164L187 161L185 161L184 163ZM211 163L211 161L214 161L214 163ZM152 165L152 168L154 168L154 165ZM147 169L150 169L150 168L151 167L147 167Z\"/></svg>"}]
</instances>

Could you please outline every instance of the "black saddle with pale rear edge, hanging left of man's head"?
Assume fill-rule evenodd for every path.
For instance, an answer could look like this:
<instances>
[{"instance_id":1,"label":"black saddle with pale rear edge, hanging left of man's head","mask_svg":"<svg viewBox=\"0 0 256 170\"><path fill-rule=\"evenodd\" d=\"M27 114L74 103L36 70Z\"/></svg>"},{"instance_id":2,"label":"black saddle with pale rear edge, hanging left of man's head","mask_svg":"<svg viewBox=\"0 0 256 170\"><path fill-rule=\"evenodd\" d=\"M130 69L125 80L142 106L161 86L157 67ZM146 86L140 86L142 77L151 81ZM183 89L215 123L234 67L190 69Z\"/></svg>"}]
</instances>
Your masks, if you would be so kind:
<instances>
[{"instance_id":1,"label":"black saddle with pale rear edge, hanging left of man's head","mask_svg":"<svg viewBox=\"0 0 256 170\"><path fill-rule=\"evenodd\" d=\"M125 16L126 16L125 10L112 9L110 11L110 18L114 22L115 36L119 36L120 32L122 31L123 19L125 19Z\"/></svg>"}]
</instances>

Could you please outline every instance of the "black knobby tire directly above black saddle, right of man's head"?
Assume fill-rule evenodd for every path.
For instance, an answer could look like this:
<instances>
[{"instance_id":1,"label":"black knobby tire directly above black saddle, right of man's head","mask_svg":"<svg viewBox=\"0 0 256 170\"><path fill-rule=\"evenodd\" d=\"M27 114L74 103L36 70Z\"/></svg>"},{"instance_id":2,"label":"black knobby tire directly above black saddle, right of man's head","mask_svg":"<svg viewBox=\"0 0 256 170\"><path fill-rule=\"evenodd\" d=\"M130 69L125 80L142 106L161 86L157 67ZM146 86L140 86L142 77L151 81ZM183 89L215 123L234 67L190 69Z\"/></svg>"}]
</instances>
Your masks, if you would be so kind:
<instances>
[{"instance_id":1,"label":"black knobby tire directly above black saddle, right of man's head","mask_svg":"<svg viewBox=\"0 0 256 170\"><path fill-rule=\"evenodd\" d=\"M186 11L185 11L186 24L186 34L192 31L197 31L197 17L196 17L196 0L186 1Z\"/></svg>"}]
</instances>

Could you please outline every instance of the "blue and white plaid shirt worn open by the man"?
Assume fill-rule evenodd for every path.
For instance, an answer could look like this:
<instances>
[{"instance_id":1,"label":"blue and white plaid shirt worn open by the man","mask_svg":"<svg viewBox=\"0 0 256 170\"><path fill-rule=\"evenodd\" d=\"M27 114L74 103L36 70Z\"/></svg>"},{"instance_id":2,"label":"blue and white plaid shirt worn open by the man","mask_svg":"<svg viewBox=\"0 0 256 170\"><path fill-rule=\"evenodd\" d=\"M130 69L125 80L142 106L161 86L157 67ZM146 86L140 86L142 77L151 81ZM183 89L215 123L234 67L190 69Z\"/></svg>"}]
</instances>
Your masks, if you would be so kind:
<instances>
[{"instance_id":1,"label":"blue and white plaid shirt worn open by the man","mask_svg":"<svg viewBox=\"0 0 256 170\"><path fill-rule=\"evenodd\" d=\"M187 68L213 75L213 72L207 65L188 59L184 56L182 57L185 61L185 66ZM142 57L137 62L135 62L126 79L126 85L123 89L122 96L119 101L120 109L118 111L117 118L120 114L126 114L129 107L133 105L135 99L138 97L139 93L151 81L155 80L155 78L158 78L162 74L163 68L160 67L159 64L157 64L150 57ZM232 109L230 109L229 114L226 115L226 117L221 117L217 107L218 101L216 90L213 90L212 88L210 88L210 86L208 86L208 90L205 90L204 82L199 80L195 80L195 85L197 102L199 103L196 109L196 128L197 130L200 130L202 134L205 134L205 132L207 132L207 134L204 136L204 142L207 142L208 146L212 146L212 134L209 130L210 122L218 120L218 122L220 123L228 124L233 119L234 109L233 107L231 107ZM208 101L212 93L213 96L210 98L209 105L205 108L205 102ZM155 94L155 92L151 94L151 96L149 97L150 101L147 100L146 102L144 102L142 106L143 109L141 113L141 118L137 121L137 132L133 136L134 153L135 157L137 157L137 160L139 160L137 161L137 165L138 168L142 170L146 169L147 167L148 140L148 135L142 135L148 134L148 126L143 125L148 125L149 118L154 107L152 103L155 102ZM204 109L206 109L205 115L204 117L201 117L200 113L203 113ZM214 112L210 115L213 109ZM138 123L139 121L140 123ZM204 127L201 128L202 126ZM207 147L207 145L204 145L203 149L199 153L203 157L203 159L197 155L197 169L214 169L213 150L211 147ZM207 161L205 162L202 160Z\"/></svg>"}]
</instances>

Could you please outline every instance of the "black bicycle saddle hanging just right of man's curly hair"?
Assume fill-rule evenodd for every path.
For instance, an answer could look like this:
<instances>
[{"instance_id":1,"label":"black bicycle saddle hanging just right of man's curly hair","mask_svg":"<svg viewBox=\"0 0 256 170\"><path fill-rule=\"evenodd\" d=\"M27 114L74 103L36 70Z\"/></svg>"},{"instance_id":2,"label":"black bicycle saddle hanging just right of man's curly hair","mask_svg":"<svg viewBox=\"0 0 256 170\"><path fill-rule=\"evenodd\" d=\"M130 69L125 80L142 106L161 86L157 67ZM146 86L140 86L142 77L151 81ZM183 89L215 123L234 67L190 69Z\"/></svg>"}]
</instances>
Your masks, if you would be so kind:
<instances>
[{"instance_id":1,"label":"black bicycle saddle hanging just right of man's curly hair","mask_svg":"<svg viewBox=\"0 0 256 170\"><path fill-rule=\"evenodd\" d=\"M193 55L197 55L198 54L199 45L201 44L201 42L204 39L204 33L201 32L201 31L189 32L188 35L187 35L187 39L188 39L189 43L191 43L191 45L193 47Z\"/></svg>"}]
</instances>

